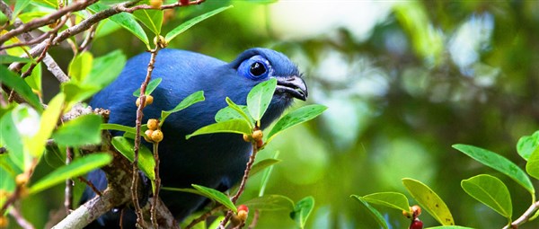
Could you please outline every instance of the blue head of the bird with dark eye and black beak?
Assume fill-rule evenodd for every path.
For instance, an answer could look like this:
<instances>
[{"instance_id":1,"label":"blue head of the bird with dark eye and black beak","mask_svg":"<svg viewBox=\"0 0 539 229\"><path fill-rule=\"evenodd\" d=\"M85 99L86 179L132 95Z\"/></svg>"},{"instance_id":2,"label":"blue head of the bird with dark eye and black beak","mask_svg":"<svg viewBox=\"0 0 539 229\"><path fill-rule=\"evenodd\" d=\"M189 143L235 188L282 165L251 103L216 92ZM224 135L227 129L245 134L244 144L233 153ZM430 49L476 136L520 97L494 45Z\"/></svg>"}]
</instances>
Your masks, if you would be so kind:
<instances>
[{"instance_id":1,"label":"blue head of the bird with dark eye and black beak","mask_svg":"<svg viewBox=\"0 0 539 229\"><path fill-rule=\"evenodd\" d=\"M229 65L243 84L249 84L248 88L270 78L277 79L270 108L262 119L262 128L277 119L294 98L302 101L307 98L307 85L297 66L280 52L268 48L247 49Z\"/></svg>"}]
</instances>

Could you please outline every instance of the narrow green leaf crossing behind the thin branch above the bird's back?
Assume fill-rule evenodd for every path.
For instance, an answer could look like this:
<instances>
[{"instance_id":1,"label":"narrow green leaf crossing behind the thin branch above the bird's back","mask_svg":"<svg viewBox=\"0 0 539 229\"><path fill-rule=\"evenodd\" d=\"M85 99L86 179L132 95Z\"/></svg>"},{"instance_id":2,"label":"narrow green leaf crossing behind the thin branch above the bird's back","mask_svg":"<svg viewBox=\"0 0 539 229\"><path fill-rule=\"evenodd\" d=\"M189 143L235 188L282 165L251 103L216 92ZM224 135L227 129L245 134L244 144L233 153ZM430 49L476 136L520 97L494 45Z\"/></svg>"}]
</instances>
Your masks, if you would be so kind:
<instances>
[{"instance_id":1,"label":"narrow green leaf crossing behind the thin branch above the bird's back","mask_svg":"<svg viewBox=\"0 0 539 229\"><path fill-rule=\"evenodd\" d=\"M88 8L94 13L96 13L109 9L110 7L106 4L95 3L90 5ZM137 20L135 19L135 16L130 13L123 12L113 15L109 19L110 21L118 23L121 27L133 33L133 35L135 35L139 40L144 42L146 44L146 47L150 49L150 42L148 40L148 37L146 36L146 32L144 31L144 29L142 29L142 26L138 24ZM119 69L121 70L122 67L119 67Z\"/></svg>"}]
</instances>

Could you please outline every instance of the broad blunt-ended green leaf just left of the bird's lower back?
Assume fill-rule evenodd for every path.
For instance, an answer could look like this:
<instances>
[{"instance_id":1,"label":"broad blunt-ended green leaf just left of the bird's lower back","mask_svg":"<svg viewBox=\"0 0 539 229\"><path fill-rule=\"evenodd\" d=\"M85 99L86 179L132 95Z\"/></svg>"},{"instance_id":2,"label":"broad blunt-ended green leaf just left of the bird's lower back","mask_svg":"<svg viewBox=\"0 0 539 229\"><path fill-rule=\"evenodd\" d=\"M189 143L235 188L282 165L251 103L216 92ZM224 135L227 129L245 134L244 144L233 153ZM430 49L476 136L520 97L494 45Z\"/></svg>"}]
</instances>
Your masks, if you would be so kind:
<instances>
[{"instance_id":1,"label":"broad blunt-ended green leaf just left of the bird's lower back","mask_svg":"<svg viewBox=\"0 0 539 229\"><path fill-rule=\"evenodd\" d=\"M80 146L101 143L102 118L89 114L70 120L52 135L58 145Z\"/></svg>"}]
</instances>

